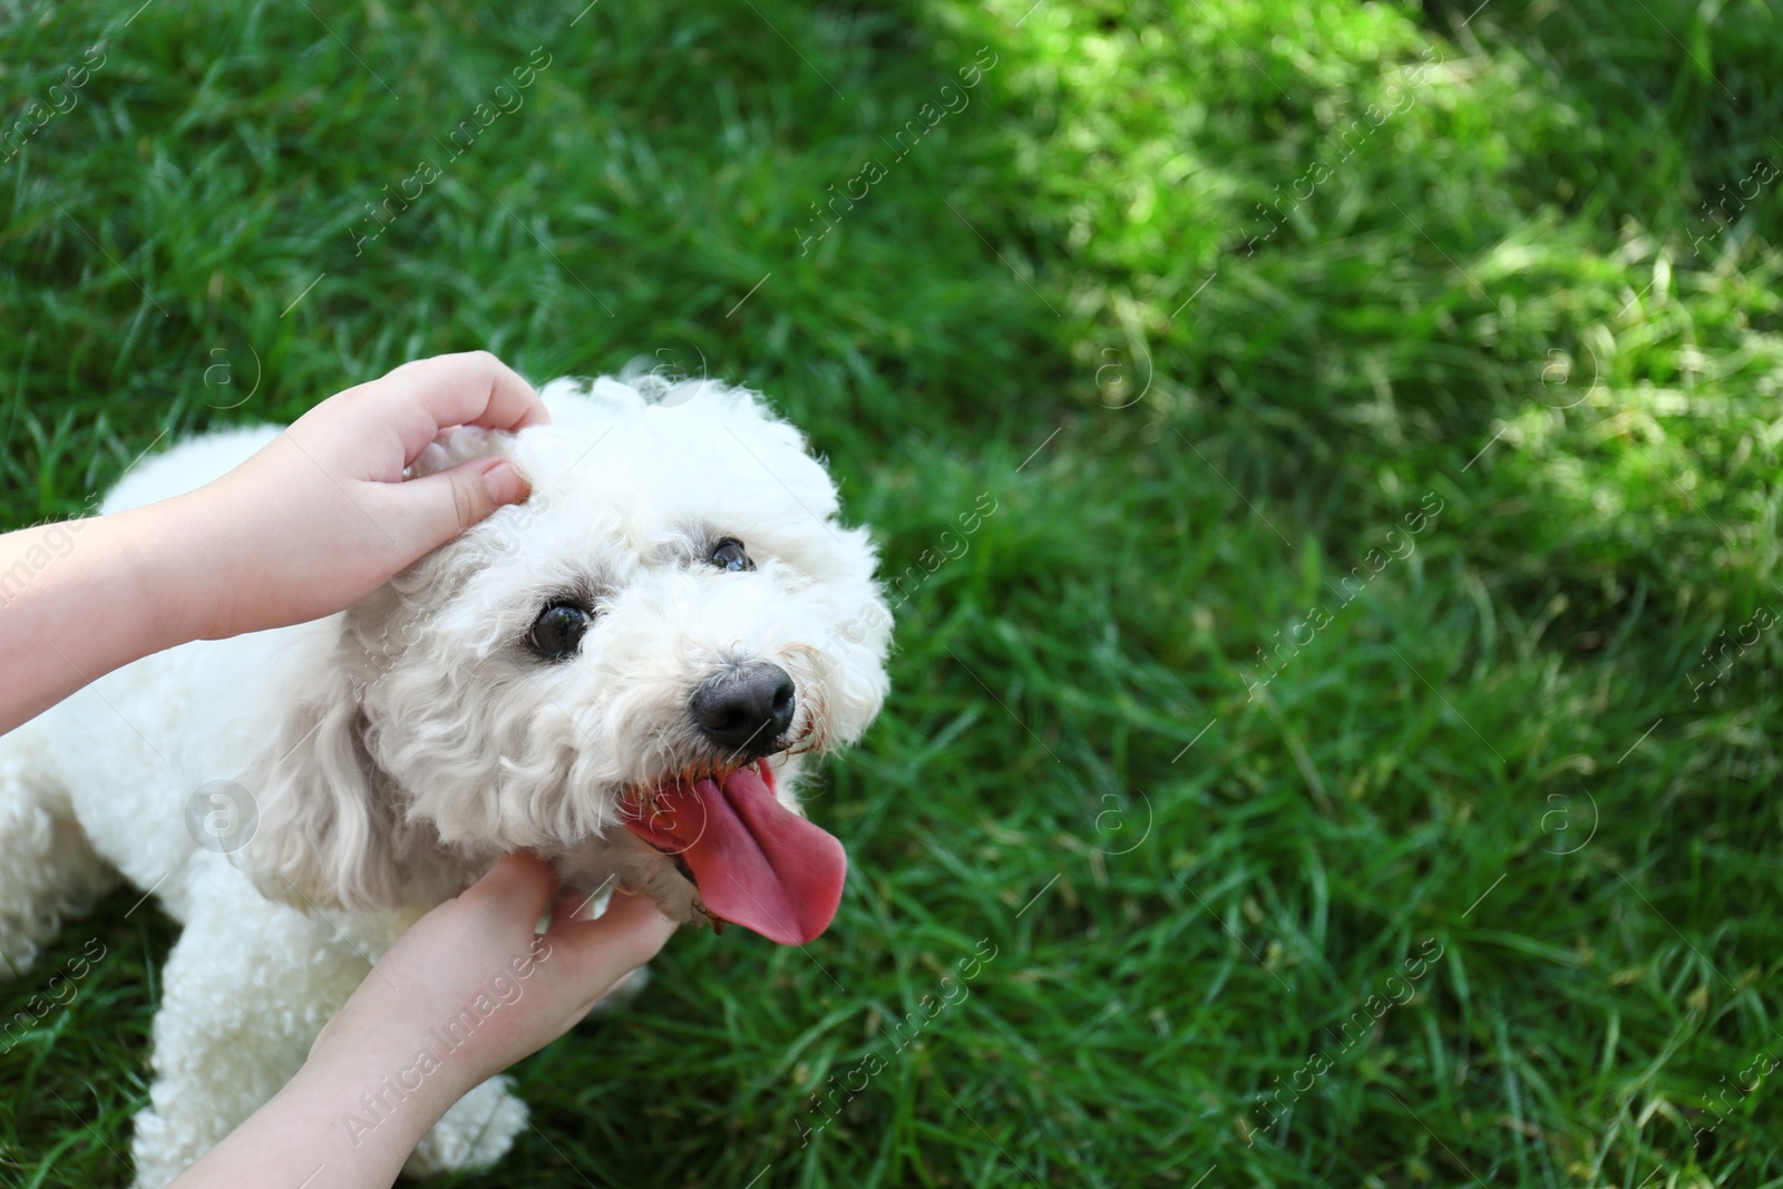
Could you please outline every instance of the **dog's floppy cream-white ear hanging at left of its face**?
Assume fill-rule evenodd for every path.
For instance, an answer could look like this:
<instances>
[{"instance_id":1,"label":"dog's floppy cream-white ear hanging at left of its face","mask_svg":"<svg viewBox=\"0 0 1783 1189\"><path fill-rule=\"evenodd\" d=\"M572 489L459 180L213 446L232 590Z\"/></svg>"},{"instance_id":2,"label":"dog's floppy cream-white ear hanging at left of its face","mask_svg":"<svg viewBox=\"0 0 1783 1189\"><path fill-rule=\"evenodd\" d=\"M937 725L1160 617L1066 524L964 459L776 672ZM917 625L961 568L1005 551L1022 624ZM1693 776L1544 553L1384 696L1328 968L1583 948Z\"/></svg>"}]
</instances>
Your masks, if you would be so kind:
<instances>
[{"instance_id":1,"label":"dog's floppy cream-white ear hanging at left of its face","mask_svg":"<svg viewBox=\"0 0 1783 1189\"><path fill-rule=\"evenodd\" d=\"M390 907L401 898L399 809L366 745L374 663L351 620L337 647L298 677L283 722L242 777L259 824L235 857L264 895L296 907Z\"/></svg>"}]
</instances>

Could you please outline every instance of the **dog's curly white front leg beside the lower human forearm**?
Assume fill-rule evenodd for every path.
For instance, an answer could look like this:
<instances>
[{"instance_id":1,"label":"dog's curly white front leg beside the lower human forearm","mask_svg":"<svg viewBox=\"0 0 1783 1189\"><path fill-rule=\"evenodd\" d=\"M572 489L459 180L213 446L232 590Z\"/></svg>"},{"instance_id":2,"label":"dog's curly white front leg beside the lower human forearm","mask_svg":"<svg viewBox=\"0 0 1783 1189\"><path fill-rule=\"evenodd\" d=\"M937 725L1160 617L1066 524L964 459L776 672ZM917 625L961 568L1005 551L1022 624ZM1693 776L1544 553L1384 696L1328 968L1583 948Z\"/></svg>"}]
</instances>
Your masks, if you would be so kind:
<instances>
[{"instance_id":1,"label":"dog's curly white front leg beside the lower human forearm","mask_svg":"<svg viewBox=\"0 0 1783 1189\"><path fill-rule=\"evenodd\" d=\"M353 941L266 900L223 856L193 863L196 907L162 973L155 1080L136 1116L141 1189L166 1185L278 1093L371 970Z\"/></svg>"}]
</instances>

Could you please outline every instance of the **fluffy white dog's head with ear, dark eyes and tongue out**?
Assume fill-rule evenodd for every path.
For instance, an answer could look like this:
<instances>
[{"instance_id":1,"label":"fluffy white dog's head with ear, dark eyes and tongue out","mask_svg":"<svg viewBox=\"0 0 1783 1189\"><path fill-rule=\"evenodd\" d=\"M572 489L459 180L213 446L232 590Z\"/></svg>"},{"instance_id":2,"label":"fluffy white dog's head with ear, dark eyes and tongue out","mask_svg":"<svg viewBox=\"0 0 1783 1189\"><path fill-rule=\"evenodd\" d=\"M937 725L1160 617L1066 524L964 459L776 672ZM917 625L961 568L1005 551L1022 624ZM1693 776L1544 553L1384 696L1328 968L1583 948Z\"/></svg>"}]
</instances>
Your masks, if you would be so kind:
<instances>
[{"instance_id":1,"label":"fluffy white dog's head with ear, dark eyes and tongue out","mask_svg":"<svg viewBox=\"0 0 1783 1189\"><path fill-rule=\"evenodd\" d=\"M531 496L348 611L246 777L242 859L280 898L399 906L524 847L806 941L845 859L799 811L801 756L852 743L888 688L867 531L747 390L546 398L553 424L417 463L501 451Z\"/></svg>"}]
</instances>

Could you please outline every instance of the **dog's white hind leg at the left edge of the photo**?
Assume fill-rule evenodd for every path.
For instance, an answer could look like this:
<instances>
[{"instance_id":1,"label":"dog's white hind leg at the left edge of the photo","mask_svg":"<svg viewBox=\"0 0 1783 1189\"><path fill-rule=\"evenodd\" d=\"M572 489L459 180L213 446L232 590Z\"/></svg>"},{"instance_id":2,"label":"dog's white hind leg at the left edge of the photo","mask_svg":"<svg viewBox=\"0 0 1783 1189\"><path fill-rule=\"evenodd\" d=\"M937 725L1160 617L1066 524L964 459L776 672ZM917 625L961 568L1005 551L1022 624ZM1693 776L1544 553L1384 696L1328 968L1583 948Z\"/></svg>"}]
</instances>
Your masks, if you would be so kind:
<instances>
[{"instance_id":1,"label":"dog's white hind leg at the left edge of the photo","mask_svg":"<svg viewBox=\"0 0 1783 1189\"><path fill-rule=\"evenodd\" d=\"M75 824L34 729L0 738L0 979L25 972L62 918L116 882Z\"/></svg>"}]
</instances>

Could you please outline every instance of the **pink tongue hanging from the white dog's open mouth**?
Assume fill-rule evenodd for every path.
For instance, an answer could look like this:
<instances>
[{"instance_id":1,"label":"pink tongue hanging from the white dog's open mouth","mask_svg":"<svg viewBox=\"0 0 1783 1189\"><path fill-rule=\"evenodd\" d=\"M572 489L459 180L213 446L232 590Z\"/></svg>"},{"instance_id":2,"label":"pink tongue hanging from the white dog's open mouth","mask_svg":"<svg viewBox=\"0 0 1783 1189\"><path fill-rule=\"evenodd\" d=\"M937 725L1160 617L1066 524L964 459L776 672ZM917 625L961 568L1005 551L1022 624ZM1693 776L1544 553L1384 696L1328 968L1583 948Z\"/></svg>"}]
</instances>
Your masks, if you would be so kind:
<instances>
[{"instance_id":1,"label":"pink tongue hanging from the white dog's open mouth","mask_svg":"<svg viewBox=\"0 0 1783 1189\"><path fill-rule=\"evenodd\" d=\"M740 768L722 788L704 779L660 790L656 809L626 825L686 859L713 914L768 941L804 945L842 902L842 843L783 808L754 768Z\"/></svg>"}]
</instances>

